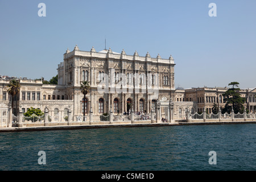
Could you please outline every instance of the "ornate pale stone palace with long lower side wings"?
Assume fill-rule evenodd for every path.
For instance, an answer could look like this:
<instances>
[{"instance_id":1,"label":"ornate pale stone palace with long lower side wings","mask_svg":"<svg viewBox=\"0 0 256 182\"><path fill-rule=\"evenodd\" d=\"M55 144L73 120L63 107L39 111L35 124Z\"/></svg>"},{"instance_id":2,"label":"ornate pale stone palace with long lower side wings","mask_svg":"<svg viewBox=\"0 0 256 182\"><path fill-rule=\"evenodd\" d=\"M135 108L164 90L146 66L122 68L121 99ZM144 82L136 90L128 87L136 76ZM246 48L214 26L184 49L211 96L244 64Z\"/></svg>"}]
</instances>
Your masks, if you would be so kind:
<instances>
[{"instance_id":1,"label":"ornate pale stone palace with long lower side wings","mask_svg":"<svg viewBox=\"0 0 256 182\"><path fill-rule=\"evenodd\" d=\"M162 59L160 55L151 57L126 55L113 52L112 49L96 52L81 51L75 46L73 51L64 53L63 62L57 67L58 84L43 84L42 80L16 78L20 82L20 92L14 96L13 114L23 113L30 107L44 111L47 107L52 121L64 121L68 110L72 110L73 121L81 121L84 102L85 114L93 112L93 121L99 121L100 115L113 111L114 115L127 111L149 114L155 111L157 101L174 102L174 119L184 119L187 110L211 112L213 103L224 106L222 93L228 88L191 88L175 89L174 59ZM11 79L0 78L0 103L11 105L12 97L7 93L7 84ZM89 81L90 91L81 93L80 85ZM121 91L120 91L121 90ZM247 98L245 106L254 112L256 108L256 89L241 90ZM16 109L18 108L18 109ZM161 117L166 115L162 108Z\"/></svg>"}]
</instances>

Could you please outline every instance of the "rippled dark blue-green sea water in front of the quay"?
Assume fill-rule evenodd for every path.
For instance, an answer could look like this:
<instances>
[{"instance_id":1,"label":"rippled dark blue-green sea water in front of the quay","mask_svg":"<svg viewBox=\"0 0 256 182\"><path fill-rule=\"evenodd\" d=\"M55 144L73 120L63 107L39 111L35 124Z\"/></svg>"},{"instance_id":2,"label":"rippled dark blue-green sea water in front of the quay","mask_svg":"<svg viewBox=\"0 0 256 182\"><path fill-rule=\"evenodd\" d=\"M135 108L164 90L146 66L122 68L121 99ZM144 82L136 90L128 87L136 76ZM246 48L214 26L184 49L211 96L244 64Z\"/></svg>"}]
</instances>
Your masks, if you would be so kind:
<instances>
[{"instance_id":1,"label":"rippled dark blue-green sea water in front of the quay","mask_svg":"<svg viewBox=\"0 0 256 182\"><path fill-rule=\"evenodd\" d=\"M0 133L0 170L255 170L255 142L255 124Z\"/></svg>"}]
</instances>

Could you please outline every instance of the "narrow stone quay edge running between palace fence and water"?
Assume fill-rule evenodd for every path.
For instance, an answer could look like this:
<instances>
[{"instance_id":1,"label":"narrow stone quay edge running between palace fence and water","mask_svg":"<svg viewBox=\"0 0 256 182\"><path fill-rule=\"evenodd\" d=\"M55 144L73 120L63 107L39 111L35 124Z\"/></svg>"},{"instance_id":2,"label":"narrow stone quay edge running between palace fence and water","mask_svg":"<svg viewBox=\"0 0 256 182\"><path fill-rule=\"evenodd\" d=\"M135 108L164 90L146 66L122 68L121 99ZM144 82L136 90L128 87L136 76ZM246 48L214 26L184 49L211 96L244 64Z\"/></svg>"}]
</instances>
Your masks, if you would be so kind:
<instances>
[{"instance_id":1,"label":"narrow stone quay edge running between palace fence and water","mask_svg":"<svg viewBox=\"0 0 256 182\"><path fill-rule=\"evenodd\" d=\"M162 122L162 123L151 123L150 121L143 122L113 122L113 123L94 123L89 122L74 122L73 125L55 125L55 126L23 126L23 127L0 127L0 133L2 132L20 132L20 131L46 131L46 130L81 130L81 129L100 129L108 127L159 127L159 126L184 126L184 125L230 125L230 124L248 124L256 123L254 121L193 121L187 122L185 120L176 121L174 123ZM64 124L64 123L63 123Z\"/></svg>"}]
</instances>

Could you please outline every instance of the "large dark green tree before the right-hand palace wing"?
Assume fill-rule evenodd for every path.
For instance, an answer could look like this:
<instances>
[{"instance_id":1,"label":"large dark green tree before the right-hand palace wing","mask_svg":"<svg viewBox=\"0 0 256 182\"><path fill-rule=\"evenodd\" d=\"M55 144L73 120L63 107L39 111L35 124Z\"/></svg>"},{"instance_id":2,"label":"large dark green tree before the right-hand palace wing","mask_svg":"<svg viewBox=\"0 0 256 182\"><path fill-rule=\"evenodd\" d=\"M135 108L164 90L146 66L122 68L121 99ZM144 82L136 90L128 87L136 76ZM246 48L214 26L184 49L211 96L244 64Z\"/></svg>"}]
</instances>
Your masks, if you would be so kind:
<instances>
[{"instance_id":1,"label":"large dark green tree before the right-hand palace wing","mask_svg":"<svg viewBox=\"0 0 256 182\"><path fill-rule=\"evenodd\" d=\"M222 113L230 113L232 111L232 108L234 110L234 113L243 113L243 110L245 109L243 107L243 104L245 103L245 98L241 97L240 88L238 87L239 83L230 82L229 85L232 85L232 88L226 90L226 92L222 94L222 96L224 97L224 101L226 102L225 107L222 109Z\"/></svg>"}]
</instances>

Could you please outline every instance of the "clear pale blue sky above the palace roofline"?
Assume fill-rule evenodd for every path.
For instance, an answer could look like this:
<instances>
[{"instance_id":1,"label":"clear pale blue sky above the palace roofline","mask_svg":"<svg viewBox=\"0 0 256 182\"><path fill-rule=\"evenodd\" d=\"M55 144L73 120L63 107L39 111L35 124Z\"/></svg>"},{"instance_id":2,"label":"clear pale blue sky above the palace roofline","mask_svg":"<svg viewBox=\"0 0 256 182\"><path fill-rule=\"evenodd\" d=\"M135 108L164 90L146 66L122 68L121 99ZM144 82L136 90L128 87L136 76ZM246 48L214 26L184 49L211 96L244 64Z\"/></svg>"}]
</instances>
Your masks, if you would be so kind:
<instances>
[{"instance_id":1,"label":"clear pale blue sky above the palace roofline","mask_svg":"<svg viewBox=\"0 0 256 182\"><path fill-rule=\"evenodd\" d=\"M46 4L46 17L38 4ZM209 3L217 17L210 17ZM67 48L175 59L175 86L255 88L256 1L0 1L0 75L49 80Z\"/></svg>"}]
</instances>

